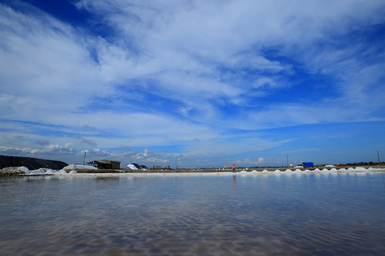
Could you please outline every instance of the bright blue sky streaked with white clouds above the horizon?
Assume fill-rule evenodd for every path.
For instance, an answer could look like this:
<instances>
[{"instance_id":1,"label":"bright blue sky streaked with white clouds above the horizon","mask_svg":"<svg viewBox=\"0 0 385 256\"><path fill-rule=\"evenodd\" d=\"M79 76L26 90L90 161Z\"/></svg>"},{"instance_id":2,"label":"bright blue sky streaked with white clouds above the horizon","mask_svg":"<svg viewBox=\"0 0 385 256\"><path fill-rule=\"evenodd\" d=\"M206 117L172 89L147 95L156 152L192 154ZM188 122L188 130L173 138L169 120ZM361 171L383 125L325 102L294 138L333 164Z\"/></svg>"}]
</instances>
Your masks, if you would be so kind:
<instances>
[{"instance_id":1,"label":"bright blue sky streaked with white clouds above the horizon","mask_svg":"<svg viewBox=\"0 0 385 256\"><path fill-rule=\"evenodd\" d=\"M0 154L385 158L384 1L0 0L0 17Z\"/></svg>"}]
</instances>

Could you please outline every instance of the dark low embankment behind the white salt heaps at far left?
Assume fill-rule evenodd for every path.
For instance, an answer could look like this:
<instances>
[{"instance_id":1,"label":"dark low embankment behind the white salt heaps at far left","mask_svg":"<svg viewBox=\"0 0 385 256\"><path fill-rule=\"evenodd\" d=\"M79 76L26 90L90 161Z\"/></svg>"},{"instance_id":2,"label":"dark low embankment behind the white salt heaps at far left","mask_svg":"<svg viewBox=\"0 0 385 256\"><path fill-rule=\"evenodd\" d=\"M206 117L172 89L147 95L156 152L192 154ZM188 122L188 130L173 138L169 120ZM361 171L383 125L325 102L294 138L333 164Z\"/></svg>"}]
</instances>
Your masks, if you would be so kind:
<instances>
[{"instance_id":1,"label":"dark low embankment behind the white salt heaps at far left","mask_svg":"<svg viewBox=\"0 0 385 256\"><path fill-rule=\"evenodd\" d=\"M0 169L5 167L25 166L29 170L37 170L40 168L49 168L53 170L63 169L68 164L63 161L36 159L24 156L1 156Z\"/></svg>"}]
</instances>

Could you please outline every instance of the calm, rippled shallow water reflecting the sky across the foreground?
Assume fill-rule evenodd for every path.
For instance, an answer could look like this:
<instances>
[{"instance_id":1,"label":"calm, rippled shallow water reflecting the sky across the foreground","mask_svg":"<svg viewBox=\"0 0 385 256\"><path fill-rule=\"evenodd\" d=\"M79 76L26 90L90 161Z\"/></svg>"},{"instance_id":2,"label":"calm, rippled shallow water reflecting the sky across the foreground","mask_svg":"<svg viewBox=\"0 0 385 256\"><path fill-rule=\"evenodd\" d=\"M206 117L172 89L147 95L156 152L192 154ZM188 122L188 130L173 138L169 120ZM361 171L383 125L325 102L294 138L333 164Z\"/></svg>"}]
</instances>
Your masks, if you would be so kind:
<instances>
[{"instance_id":1,"label":"calm, rippled shallow water reflecting the sky across the foreground","mask_svg":"<svg viewBox=\"0 0 385 256\"><path fill-rule=\"evenodd\" d=\"M1 255L385 255L381 173L0 178Z\"/></svg>"}]
</instances>

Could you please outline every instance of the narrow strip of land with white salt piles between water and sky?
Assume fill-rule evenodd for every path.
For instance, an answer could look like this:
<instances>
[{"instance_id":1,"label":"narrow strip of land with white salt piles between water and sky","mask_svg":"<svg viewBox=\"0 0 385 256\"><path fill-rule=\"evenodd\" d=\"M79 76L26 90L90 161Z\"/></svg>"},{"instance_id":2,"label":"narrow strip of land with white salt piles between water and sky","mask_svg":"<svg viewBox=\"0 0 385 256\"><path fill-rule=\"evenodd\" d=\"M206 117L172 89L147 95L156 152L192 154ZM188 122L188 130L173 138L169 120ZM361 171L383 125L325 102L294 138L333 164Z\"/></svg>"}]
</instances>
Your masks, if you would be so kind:
<instances>
[{"instance_id":1,"label":"narrow strip of land with white salt piles between water and sky","mask_svg":"<svg viewBox=\"0 0 385 256\"><path fill-rule=\"evenodd\" d=\"M131 165L131 164L130 164ZM128 166L130 166L128 165ZM129 169L121 166L121 169L98 169L91 165L66 164L63 161L48 159L36 159L21 156L0 156L0 176L22 176L22 175L66 175L66 174L120 174L120 175L227 175L232 173L230 168L182 168L182 169ZM320 165L313 167L291 166L291 167L250 167L237 168L235 174L328 174L362 171L385 171L380 164L371 166L344 166L339 164Z\"/></svg>"}]
</instances>

